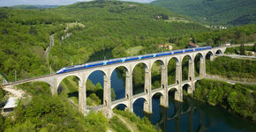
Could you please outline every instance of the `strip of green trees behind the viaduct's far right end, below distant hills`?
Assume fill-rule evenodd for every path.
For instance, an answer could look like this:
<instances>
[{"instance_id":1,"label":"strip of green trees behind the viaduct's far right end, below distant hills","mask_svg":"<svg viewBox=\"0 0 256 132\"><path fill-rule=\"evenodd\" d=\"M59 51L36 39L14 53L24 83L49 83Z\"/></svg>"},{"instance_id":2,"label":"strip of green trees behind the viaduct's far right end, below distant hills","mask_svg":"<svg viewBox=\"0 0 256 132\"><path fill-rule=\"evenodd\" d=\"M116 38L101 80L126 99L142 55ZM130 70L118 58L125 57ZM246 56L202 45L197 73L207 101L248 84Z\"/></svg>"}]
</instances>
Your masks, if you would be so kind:
<instances>
[{"instance_id":1,"label":"strip of green trees behind the viaduct's far right end, below distant hills","mask_svg":"<svg viewBox=\"0 0 256 132\"><path fill-rule=\"evenodd\" d=\"M170 37L169 42L176 43L178 46L187 43L189 38L200 46L218 47L222 44L242 44L254 43L256 41L256 25L236 26L227 30L213 30L202 33L193 33L186 37Z\"/></svg>"}]
</instances>

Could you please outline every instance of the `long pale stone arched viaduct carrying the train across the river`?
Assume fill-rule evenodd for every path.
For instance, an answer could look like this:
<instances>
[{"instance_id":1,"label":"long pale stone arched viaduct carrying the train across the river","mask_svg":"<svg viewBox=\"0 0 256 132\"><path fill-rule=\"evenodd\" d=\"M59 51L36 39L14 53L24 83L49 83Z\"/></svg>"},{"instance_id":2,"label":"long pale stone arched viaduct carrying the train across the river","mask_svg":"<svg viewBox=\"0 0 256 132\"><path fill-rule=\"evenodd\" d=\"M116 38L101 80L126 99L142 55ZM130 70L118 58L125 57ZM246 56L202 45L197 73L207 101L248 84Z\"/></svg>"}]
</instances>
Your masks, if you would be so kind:
<instances>
[{"instance_id":1,"label":"long pale stone arched viaduct carrying the train across the river","mask_svg":"<svg viewBox=\"0 0 256 132\"><path fill-rule=\"evenodd\" d=\"M23 84L26 82L35 82L41 81L46 82L50 85L52 94L57 93L57 88L65 77L75 76L79 78L79 111L83 114L86 114L89 109L95 108L103 108L108 110L110 113L112 109L120 104L124 104L128 107L130 111L133 111L132 105L136 101L136 99L143 98L144 99L144 111L151 114L152 113L152 97L156 93L161 94L161 105L169 106L169 91L175 91L175 99L178 101L183 101L183 86L184 84L188 84L189 87L187 89L188 93L193 93L195 91L194 84L200 78L205 77L206 74L206 56L210 55L210 60L213 61L215 59L216 54L222 54L226 50L226 47L218 47L211 48L201 51L194 51L190 53L183 53L177 55L164 55L154 58L148 58L143 60L136 60L132 62L120 62L110 65L104 65L100 67L93 67L84 70L75 70L72 72L66 72L62 74L53 74L44 77L34 77L26 80L21 80L17 82L12 82L9 84L4 84L4 87L12 87L16 84ZM200 55L200 77L196 78L194 76L194 60L196 55ZM185 56L189 58L189 67L188 67L188 80L182 81L182 61ZM168 85L168 63L170 59L176 60L176 83ZM160 61L162 63L161 66L161 87L158 89L152 90L151 84L151 68L153 63L156 61ZM145 86L144 92L132 95L132 71L135 66L139 63L143 63L145 66ZM125 98L118 99L116 101L111 101L111 89L110 89L110 77L112 72L117 67L124 67L126 70L125 77ZM87 87L86 82L87 78L93 73L95 70L101 70L103 73L104 81L103 81L103 105L97 107L87 106ZM111 115L110 115L111 116Z\"/></svg>"}]
</instances>

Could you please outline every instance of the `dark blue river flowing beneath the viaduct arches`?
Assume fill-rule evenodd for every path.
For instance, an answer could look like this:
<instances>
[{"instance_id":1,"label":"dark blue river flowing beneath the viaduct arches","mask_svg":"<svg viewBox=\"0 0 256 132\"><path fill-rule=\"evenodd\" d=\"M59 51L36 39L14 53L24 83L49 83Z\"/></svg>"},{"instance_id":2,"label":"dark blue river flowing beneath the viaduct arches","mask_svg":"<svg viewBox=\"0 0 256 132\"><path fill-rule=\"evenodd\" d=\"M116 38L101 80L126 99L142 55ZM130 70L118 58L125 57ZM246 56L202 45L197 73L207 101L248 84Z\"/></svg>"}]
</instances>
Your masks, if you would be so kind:
<instances>
[{"instance_id":1,"label":"dark blue river flowing beneath the viaduct arches","mask_svg":"<svg viewBox=\"0 0 256 132\"><path fill-rule=\"evenodd\" d=\"M106 50L95 54L90 61L101 60L104 55L111 58L111 50ZM111 76L111 87L116 92L116 99L123 99L125 93L125 81L118 75L118 70L114 70ZM94 71L89 79L94 84L103 84L103 74L101 71ZM169 107L160 106L160 99L154 97L153 114L143 113L143 99L138 99L133 104L133 111L139 117L147 116L156 128L167 131L256 131L256 123L247 121L244 118L231 114L219 106L210 106L196 99L184 97L184 102L179 103L169 97Z\"/></svg>"}]
</instances>

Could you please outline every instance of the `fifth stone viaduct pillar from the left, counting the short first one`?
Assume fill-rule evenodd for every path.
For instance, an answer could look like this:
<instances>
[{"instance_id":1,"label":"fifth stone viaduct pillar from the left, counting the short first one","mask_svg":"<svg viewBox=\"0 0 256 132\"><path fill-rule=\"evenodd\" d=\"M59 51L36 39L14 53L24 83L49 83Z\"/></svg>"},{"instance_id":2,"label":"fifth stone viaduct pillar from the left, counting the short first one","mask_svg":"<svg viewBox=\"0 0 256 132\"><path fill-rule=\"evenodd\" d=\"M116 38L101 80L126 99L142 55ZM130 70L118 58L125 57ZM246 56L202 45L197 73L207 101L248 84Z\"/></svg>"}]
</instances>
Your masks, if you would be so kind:
<instances>
[{"instance_id":1,"label":"fifth stone viaduct pillar from the left, counting the short first one","mask_svg":"<svg viewBox=\"0 0 256 132\"><path fill-rule=\"evenodd\" d=\"M144 112L152 114L151 69L145 70L145 92L147 94L147 100L144 102Z\"/></svg>"}]
</instances>

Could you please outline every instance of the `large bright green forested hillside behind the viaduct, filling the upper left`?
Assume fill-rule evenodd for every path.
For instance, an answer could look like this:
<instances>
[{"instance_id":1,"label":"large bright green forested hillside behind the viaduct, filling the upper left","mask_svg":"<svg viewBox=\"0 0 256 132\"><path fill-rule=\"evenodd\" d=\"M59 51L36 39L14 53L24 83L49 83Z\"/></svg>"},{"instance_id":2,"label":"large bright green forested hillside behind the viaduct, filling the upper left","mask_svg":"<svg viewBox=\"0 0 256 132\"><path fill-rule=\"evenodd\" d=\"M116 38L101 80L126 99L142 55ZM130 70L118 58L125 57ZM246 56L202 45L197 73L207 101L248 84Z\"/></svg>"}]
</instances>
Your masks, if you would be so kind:
<instances>
[{"instance_id":1,"label":"large bright green forested hillside behind the viaduct, filling the upper left","mask_svg":"<svg viewBox=\"0 0 256 132\"><path fill-rule=\"evenodd\" d=\"M186 22L171 21L180 18ZM176 13L147 4L94 1L54 9L0 8L0 70L10 81L87 62L94 52L142 45L147 53L170 36L207 31ZM49 36L54 46L49 49ZM184 45L186 45L184 43Z\"/></svg>"}]
</instances>

